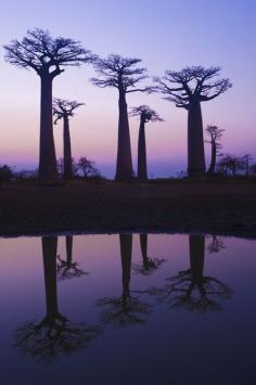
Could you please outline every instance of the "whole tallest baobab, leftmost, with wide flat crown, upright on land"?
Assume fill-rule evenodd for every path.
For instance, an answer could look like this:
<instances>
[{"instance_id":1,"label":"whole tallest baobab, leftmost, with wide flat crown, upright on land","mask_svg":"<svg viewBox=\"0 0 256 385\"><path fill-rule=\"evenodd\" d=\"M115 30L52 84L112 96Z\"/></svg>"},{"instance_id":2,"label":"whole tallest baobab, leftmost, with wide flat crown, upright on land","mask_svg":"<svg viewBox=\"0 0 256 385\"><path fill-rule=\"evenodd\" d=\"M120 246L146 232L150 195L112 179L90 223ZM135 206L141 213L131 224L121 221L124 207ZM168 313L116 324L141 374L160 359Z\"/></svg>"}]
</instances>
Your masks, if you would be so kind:
<instances>
[{"instance_id":1,"label":"whole tallest baobab, leftmost, with wide flat crown, upright on land","mask_svg":"<svg viewBox=\"0 0 256 385\"><path fill-rule=\"evenodd\" d=\"M56 157L52 125L52 82L63 67L91 63L94 56L78 41L52 38L48 30L28 30L21 40L4 46L5 60L21 68L33 68L41 81L39 179L56 178Z\"/></svg>"}]
</instances>

